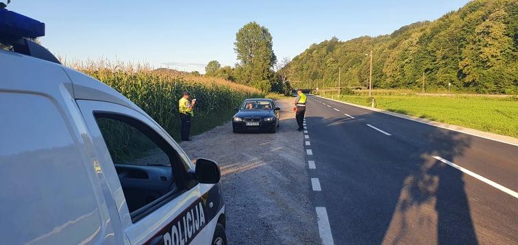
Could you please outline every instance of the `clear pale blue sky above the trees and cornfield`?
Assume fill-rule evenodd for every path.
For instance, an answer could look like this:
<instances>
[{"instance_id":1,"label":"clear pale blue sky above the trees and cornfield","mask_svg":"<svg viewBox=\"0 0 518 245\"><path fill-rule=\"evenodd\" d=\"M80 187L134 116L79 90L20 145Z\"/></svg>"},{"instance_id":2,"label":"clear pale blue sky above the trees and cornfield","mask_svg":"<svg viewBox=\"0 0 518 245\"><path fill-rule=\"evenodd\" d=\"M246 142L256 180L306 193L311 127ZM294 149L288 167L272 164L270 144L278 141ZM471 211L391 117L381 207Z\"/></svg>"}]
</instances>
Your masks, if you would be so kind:
<instances>
[{"instance_id":1,"label":"clear pale blue sky above the trees and cornfield","mask_svg":"<svg viewBox=\"0 0 518 245\"><path fill-rule=\"evenodd\" d=\"M67 60L105 57L156 68L169 63L204 73L210 60L236 63L235 34L250 21L269 29L280 60L332 36L378 36L432 21L467 2L12 0L8 9L44 22L42 43Z\"/></svg>"}]
</instances>

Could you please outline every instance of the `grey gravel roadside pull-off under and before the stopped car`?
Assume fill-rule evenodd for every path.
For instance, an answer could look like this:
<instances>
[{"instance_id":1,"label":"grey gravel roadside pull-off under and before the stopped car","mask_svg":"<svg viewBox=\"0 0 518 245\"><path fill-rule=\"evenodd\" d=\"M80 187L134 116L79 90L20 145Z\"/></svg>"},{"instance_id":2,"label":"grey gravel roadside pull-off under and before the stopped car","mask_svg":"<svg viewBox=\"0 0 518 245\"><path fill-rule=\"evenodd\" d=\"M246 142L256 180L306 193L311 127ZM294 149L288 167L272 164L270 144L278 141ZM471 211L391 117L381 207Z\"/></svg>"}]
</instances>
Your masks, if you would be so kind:
<instances>
[{"instance_id":1,"label":"grey gravel roadside pull-off under and before the stopped car","mask_svg":"<svg viewBox=\"0 0 518 245\"><path fill-rule=\"evenodd\" d=\"M180 144L191 158L219 163L229 244L320 243L292 101L275 101L282 108L277 133L235 134L229 121Z\"/></svg>"}]
</instances>

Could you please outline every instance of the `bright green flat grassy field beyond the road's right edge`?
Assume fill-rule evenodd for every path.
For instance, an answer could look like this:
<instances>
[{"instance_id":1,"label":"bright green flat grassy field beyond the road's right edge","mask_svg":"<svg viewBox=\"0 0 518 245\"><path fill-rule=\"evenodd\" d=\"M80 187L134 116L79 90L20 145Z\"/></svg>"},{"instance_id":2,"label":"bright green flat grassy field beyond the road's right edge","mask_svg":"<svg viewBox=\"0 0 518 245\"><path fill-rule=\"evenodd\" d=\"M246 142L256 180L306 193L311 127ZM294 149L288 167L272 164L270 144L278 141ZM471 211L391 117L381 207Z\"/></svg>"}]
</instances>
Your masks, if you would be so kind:
<instances>
[{"instance_id":1,"label":"bright green flat grassy field beyond the road's right edge","mask_svg":"<svg viewBox=\"0 0 518 245\"><path fill-rule=\"evenodd\" d=\"M331 98L331 94L326 97ZM338 99L336 94L334 99ZM371 106L367 96L340 96L341 101ZM495 96L375 96L376 107L518 138L518 97Z\"/></svg>"}]
</instances>

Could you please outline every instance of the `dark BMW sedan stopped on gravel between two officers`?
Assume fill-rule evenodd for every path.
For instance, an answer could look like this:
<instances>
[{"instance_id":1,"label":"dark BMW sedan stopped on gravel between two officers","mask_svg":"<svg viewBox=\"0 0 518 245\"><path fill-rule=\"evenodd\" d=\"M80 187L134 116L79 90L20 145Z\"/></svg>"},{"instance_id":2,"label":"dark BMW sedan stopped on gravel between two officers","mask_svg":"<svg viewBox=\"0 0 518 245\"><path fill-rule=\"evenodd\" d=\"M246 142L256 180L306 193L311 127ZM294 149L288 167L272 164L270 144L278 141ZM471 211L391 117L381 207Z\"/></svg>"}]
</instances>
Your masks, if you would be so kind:
<instances>
[{"instance_id":1,"label":"dark BMW sedan stopped on gravel between two officers","mask_svg":"<svg viewBox=\"0 0 518 245\"><path fill-rule=\"evenodd\" d=\"M261 131L275 133L279 127L279 107L271 99L245 99L232 118L234 133Z\"/></svg>"}]
</instances>

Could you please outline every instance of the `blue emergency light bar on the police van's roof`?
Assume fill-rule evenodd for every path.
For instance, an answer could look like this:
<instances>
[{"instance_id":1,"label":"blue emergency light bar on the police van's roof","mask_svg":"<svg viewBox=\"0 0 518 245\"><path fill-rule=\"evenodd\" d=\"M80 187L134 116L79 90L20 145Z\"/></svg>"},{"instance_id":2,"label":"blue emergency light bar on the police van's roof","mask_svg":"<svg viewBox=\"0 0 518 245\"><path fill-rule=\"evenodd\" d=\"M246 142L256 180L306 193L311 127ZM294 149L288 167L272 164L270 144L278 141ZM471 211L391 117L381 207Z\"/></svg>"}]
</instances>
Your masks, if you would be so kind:
<instances>
[{"instance_id":1,"label":"blue emergency light bar on the police van's roof","mask_svg":"<svg viewBox=\"0 0 518 245\"><path fill-rule=\"evenodd\" d=\"M25 15L0 8L0 36L38 38L45 36L45 23Z\"/></svg>"}]
</instances>

